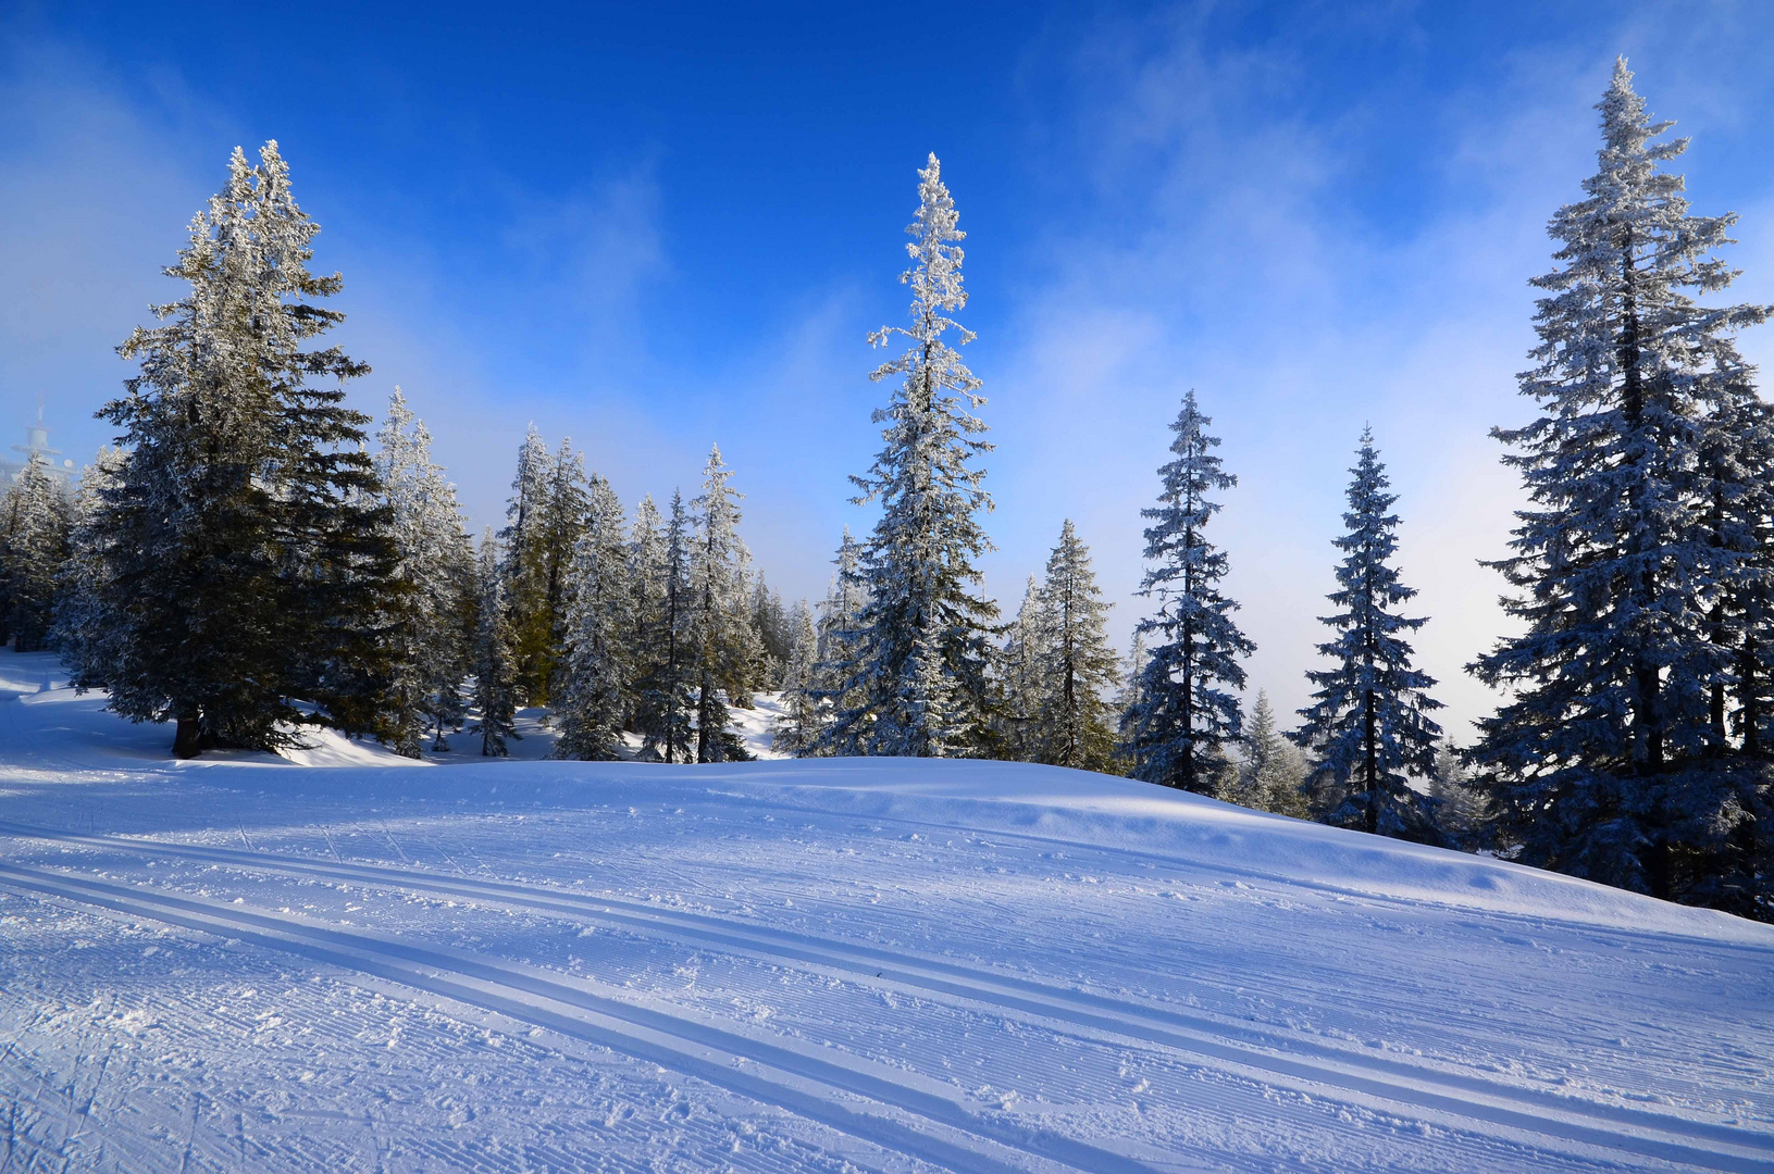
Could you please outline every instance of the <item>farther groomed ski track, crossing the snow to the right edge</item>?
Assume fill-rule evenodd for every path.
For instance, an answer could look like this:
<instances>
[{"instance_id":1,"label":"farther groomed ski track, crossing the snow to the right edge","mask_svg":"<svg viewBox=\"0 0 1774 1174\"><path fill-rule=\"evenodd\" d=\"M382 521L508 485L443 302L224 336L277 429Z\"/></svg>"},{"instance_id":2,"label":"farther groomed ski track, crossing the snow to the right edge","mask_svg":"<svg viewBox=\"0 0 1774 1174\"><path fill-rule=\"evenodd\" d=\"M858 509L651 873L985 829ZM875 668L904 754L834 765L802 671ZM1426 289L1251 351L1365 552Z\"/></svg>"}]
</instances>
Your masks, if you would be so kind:
<instances>
[{"instance_id":1,"label":"farther groomed ski track, crossing the snow to the right edge","mask_svg":"<svg viewBox=\"0 0 1774 1174\"><path fill-rule=\"evenodd\" d=\"M825 967L852 977L898 982L938 997L983 1004L997 1011L1034 1014L1047 1021L1075 1029L1109 1032L1222 1064L1256 1069L1260 1078L1281 1078L1283 1084L1304 1082L1306 1087L1302 1091L1313 1096L1322 1096L1325 1089L1345 1094L1355 1092L1380 1098L1407 1110L1428 1110L1432 1114L1448 1114L1474 1123L1483 1121L1526 1133L1559 1137L1563 1140L1613 1149L1625 1147L1646 1156L1668 1156L1662 1149L1637 1151L1630 1144L1630 1135L1625 1133L1625 1130L1637 1130L1662 1135L1664 1139L1680 1139L1671 1140L1675 1146L1710 1142L1747 1153L1760 1153L1763 1154L1763 1163L1774 1163L1774 1139L1747 1130L1705 1121L1685 1121L1629 1107L1575 1101L1536 1089L1499 1085L1478 1076L1426 1069L1387 1057L1359 1055L1313 1041L1236 1029L1213 1020L1160 1007L1144 1007L1089 991L1050 986L944 959L917 958L905 951L811 938L639 901L575 894L511 881L458 880L433 873L364 864L339 865L264 851L239 853L197 844L183 846L121 837L94 837L25 828L5 821L0 821L0 832L48 839L51 842L76 842L94 848L135 851L140 855L184 857L273 874L325 876L339 881L483 899L639 929L688 945L715 945L726 951L759 956L766 961L797 961ZM1244 1039L1229 1037L1233 1034ZM1696 1158L1684 1160L1696 1162ZM1701 1162L1701 1165L1705 1163ZM1765 1165L1760 1169L1765 1169Z\"/></svg>"}]
</instances>

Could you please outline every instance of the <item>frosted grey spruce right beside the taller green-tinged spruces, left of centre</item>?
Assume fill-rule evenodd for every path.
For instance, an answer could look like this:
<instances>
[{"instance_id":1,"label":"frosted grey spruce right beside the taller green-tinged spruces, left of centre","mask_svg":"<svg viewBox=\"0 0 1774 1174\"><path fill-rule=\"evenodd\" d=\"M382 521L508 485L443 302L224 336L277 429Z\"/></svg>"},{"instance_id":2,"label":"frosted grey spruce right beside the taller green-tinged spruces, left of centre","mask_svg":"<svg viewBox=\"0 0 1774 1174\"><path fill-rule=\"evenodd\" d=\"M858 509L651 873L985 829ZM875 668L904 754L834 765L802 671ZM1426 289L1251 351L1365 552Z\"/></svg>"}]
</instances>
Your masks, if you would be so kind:
<instances>
[{"instance_id":1,"label":"frosted grey spruce right beside the taller green-tinged spruces, left of centre","mask_svg":"<svg viewBox=\"0 0 1774 1174\"><path fill-rule=\"evenodd\" d=\"M552 692L561 731L553 755L610 761L619 757L628 718L635 594L628 582L623 504L603 477L593 475L587 505L564 591L569 605Z\"/></svg>"}]
</instances>

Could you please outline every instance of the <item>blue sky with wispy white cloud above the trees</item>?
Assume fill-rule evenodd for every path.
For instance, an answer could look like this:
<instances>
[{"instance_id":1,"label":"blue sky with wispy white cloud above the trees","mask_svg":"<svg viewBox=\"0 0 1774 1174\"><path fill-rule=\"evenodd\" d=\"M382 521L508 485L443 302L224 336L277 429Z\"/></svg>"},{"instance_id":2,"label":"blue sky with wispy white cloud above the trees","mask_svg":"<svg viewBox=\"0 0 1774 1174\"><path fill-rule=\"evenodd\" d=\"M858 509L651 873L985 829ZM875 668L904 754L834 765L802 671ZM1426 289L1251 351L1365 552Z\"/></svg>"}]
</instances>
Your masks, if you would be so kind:
<instances>
[{"instance_id":1,"label":"blue sky with wispy white cloud above the trees","mask_svg":"<svg viewBox=\"0 0 1774 1174\"><path fill-rule=\"evenodd\" d=\"M1504 622L1476 560L1517 502L1487 431L1529 410L1526 282L1616 53L1692 135L1696 211L1742 213L1737 296L1774 301L1762 4L367 7L5 9L0 424L43 392L90 456L112 348L176 296L158 268L227 153L275 137L374 367L355 401L406 390L477 527L529 422L630 505L718 442L759 562L816 596L869 525L864 335L905 314L935 151L999 445L988 591L1013 607L1071 516L1125 640L1194 387L1240 475L1215 525L1252 686L1293 709L1371 422L1464 734L1490 699L1460 667Z\"/></svg>"}]
</instances>

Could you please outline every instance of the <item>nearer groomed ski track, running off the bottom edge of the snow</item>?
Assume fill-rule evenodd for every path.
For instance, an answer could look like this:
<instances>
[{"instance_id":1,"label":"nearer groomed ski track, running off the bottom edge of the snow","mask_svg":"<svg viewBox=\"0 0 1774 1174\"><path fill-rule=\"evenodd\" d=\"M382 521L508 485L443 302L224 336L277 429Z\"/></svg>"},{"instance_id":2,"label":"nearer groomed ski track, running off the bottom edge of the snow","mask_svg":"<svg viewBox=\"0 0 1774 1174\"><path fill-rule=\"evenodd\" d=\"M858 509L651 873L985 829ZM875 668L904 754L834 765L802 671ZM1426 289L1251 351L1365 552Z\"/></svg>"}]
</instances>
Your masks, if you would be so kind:
<instances>
[{"instance_id":1,"label":"nearer groomed ski track, running off the bottom edge of the snow","mask_svg":"<svg viewBox=\"0 0 1774 1174\"><path fill-rule=\"evenodd\" d=\"M791 1041L768 1043L717 1025L600 995L536 967L442 951L399 938L314 924L241 904L114 885L0 862L0 885L250 942L310 961L507 1014L717 1087L786 1108L876 1146L954 1170L1160 1174L1150 1165L1061 1133L979 1115L933 1082L871 1061L811 1055ZM823 1052L823 1050L821 1050ZM917 1124L898 1114L915 1117ZM1737 1170L1739 1167L1714 1167ZM1747 1167L1744 1167L1747 1169Z\"/></svg>"}]
</instances>

